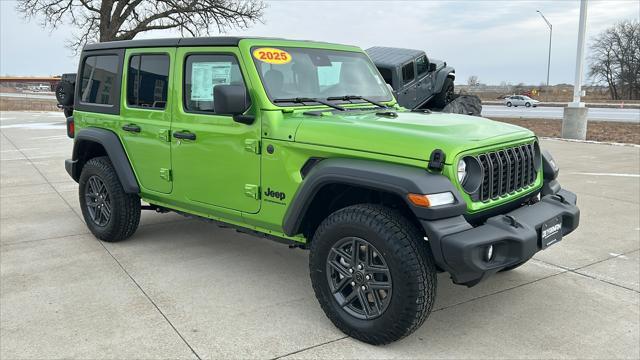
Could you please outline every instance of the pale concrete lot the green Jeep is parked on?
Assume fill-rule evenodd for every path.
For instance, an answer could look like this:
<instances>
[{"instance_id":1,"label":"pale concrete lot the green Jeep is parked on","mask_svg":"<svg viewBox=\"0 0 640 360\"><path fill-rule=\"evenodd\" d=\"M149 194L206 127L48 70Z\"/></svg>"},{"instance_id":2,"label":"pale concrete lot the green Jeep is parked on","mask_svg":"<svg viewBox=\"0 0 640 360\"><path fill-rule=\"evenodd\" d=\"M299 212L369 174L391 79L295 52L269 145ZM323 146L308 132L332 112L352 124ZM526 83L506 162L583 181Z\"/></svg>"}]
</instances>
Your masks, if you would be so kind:
<instances>
[{"instance_id":1,"label":"pale concrete lot the green Jeep is parked on","mask_svg":"<svg viewBox=\"0 0 640 360\"><path fill-rule=\"evenodd\" d=\"M308 252L144 211L129 240L83 223L60 113L0 113L0 358L639 358L640 148L543 140L581 225L371 346L320 309Z\"/></svg>"}]
</instances>

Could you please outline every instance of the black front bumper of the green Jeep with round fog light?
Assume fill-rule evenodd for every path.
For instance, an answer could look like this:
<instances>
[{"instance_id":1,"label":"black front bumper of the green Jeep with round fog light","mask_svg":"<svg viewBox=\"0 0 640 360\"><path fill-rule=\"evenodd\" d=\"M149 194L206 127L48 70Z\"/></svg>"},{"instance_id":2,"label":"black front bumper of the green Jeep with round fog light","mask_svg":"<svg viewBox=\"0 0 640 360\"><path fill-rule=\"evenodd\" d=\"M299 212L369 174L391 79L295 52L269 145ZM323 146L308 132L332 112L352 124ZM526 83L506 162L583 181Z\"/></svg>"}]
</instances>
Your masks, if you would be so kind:
<instances>
[{"instance_id":1,"label":"black front bumper of the green Jeep with round fog light","mask_svg":"<svg viewBox=\"0 0 640 360\"><path fill-rule=\"evenodd\" d=\"M477 227L463 216L421 222L436 263L451 274L456 284L473 286L542 250L540 229L547 220L561 216L563 236L575 230L580 220L576 200L574 193L558 190L533 205L490 217ZM495 255L485 261L489 245L493 245Z\"/></svg>"}]
</instances>

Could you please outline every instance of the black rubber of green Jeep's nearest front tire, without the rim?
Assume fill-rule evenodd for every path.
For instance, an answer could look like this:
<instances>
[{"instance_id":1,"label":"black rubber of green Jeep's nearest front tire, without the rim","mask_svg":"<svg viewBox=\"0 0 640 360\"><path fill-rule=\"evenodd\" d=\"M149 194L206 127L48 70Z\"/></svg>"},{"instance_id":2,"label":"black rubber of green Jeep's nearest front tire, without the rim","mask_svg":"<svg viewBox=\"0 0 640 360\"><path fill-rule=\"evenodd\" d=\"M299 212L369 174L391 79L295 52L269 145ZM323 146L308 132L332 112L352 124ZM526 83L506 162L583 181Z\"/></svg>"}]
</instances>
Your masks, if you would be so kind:
<instances>
[{"instance_id":1,"label":"black rubber of green Jeep's nearest front tire, without the rim","mask_svg":"<svg viewBox=\"0 0 640 360\"><path fill-rule=\"evenodd\" d=\"M328 256L334 244L352 237L373 245L391 276L386 310L372 319L349 314L330 288ZM369 344L387 344L411 334L427 319L436 298L437 272L428 243L415 225L383 206L353 205L327 217L311 241L309 270L316 298L331 322Z\"/></svg>"}]
</instances>

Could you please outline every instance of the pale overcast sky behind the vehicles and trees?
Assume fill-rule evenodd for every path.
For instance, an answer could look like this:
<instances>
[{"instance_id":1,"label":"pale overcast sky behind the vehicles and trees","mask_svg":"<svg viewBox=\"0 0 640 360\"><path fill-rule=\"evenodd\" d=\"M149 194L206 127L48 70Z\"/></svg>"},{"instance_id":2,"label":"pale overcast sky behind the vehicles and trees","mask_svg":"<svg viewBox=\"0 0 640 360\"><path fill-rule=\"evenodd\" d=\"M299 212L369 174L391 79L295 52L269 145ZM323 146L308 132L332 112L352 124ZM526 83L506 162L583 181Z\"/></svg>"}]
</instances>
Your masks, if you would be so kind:
<instances>
[{"instance_id":1,"label":"pale overcast sky behind the vehicles and trees","mask_svg":"<svg viewBox=\"0 0 640 360\"><path fill-rule=\"evenodd\" d=\"M274 36L357 45L423 49L456 68L458 83L540 84L546 79L553 24L552 84L573 83L580 3L556 1L268 1L264 24L228 35ZM587 36L640 17L638 0L591 0ZM15 1L0 0L0 74L53 75L75 72L77 59L65 47L73 28L53 32L26 22ZM175 37L171 31L140 36Z\"/></svg>"}]
</instances>

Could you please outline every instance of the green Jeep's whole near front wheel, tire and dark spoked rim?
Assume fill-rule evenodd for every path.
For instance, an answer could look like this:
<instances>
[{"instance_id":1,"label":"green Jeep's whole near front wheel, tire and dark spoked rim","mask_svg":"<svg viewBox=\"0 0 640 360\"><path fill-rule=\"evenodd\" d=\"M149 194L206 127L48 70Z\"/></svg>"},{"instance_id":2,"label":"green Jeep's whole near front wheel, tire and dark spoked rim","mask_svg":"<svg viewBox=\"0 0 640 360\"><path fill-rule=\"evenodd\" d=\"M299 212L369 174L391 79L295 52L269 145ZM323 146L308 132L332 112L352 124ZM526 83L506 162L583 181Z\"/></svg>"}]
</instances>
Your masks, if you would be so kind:
<instances>
[{"instance_id":1,"label":"green Jeep's whole near front wheel, tire and dark spoked rim","mask_svg":"<svg viewBox=\"0 0 640 360\"><path fill-rule=\"evenodd\" d=\"M327 317L369 344L411 334L436 297L437 272L423 235L382 206L354 205L325 219L311 242L309 270Z\"/></svg>"}]
</instances>

